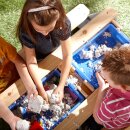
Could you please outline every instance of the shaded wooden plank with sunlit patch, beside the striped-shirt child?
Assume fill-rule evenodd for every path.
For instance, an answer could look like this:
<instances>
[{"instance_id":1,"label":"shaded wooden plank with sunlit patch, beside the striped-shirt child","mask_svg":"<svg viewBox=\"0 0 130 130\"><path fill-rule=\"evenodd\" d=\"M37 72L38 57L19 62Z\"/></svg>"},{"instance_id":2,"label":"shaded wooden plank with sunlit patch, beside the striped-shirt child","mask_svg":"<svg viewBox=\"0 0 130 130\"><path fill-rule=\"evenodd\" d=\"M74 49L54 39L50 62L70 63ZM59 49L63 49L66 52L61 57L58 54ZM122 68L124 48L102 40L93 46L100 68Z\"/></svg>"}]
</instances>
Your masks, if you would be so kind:
<instances>
[{"instance_id":1,"label":"shaded wooden plank with sunlit patch, beside the striped-shirt child","mask_svg":"<svg viewBox=\"0 0 130 130\"><path fill-rule=\"evenodd\" d=\"M82 104L75 109L66 119L64 119L54 130L76 130L79 128L83 122L92 115L96 97L97 90L93 92Z\"/></svg>"}]
</instances>

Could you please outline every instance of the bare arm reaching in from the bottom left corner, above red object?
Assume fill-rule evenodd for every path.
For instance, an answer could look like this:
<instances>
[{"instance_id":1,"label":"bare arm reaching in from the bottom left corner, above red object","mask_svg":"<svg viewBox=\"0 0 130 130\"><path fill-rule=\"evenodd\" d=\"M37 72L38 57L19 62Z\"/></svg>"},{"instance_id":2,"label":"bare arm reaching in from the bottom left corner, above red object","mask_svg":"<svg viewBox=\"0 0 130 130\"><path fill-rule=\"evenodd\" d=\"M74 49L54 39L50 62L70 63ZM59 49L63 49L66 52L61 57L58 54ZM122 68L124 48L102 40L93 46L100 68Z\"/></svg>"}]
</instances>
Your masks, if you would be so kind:
<instances>
[{"instance_id":1,"label":"bare arm reaching in from the bottom left corner, above red object","mask_svg":"<svg viewBox=\"0 0 130 130\"><path fill-rule=\"evenodd\" d=\"M0 117L3 118L11 127L12 130L16 130L16 123L20 120L6 107L2 101L0 101Z\"/></svg>"}]
</instances>

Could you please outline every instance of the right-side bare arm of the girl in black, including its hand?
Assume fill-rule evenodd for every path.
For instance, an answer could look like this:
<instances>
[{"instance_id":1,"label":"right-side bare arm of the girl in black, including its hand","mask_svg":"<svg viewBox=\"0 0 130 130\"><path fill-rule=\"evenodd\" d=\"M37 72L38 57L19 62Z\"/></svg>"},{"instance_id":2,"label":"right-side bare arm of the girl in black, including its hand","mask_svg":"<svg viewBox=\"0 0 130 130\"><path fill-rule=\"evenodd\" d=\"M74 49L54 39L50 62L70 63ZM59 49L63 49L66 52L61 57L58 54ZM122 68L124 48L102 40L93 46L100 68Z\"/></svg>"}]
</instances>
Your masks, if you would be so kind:
<instances>
[{"instance_id":1,"label":"right-side bare arm of the girl in black, including its hand","mask_svg":"<svg viewBox=\"0 0 130 130\"><path fill-rule=\"evenodd\" d=\"M66 79L68 77L70 67L71 67L71 61L72 61L72 51L71 51L71 38L68 38L65 41L61 41L61 48L62 48L62 54L63 54L63 62L62 62L62 70L61 70L61 78L58 85L58 88L54 91L54 93L60 94L60 101L62 100L64 96L64 85L66 82Z\"/></svg>"}]
</instances>

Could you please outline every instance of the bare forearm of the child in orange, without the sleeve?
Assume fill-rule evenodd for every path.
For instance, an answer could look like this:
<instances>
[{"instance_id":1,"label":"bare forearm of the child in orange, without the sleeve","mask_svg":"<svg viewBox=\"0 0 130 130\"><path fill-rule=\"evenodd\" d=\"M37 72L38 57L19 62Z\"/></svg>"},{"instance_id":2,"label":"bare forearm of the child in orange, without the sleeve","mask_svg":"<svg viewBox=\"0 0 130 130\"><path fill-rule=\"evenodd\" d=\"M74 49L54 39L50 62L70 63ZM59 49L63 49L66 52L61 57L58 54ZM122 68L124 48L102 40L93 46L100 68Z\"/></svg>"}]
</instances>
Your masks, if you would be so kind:
<instances>
[{"instance_id":1,"label":"bare forearm of the child in orange, without the sleeve","mask_svg":"<svg viewBox=\"0 0 130 130\"><path fill-rule=\"evenodd\" d=\"M25 88L28 92L28 96L30 97L31 94L33 94L34 96L36 96L38 94L35 84L28 72L28 69L26 67L26 64L24 62L24 60L17 54L15 59L12 61L17 70L18 73L21 77L21 80L23 81L23 84L25 85Z\"/></svg>"}]
</instances>

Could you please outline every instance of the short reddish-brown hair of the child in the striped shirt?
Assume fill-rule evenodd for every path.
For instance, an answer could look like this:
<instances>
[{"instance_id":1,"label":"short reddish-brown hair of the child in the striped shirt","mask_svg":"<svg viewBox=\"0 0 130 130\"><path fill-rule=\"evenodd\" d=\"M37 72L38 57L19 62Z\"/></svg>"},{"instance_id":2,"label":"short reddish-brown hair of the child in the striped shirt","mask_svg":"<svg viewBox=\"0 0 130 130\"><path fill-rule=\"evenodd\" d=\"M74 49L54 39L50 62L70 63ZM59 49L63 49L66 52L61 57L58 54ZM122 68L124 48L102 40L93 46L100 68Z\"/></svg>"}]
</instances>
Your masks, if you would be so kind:
<instances>
[{"instance_id":1,"label":"short reddish-brown hair of the child in the striped shirt","mask_svg":"<svg viewBox=\"0 0 130 130\"><path fill-rule=\"evenodd\" d=\"M102 67L110 72L110 78L115 84L130 86L130 46L106 53Z\"/></svg>"}]
</instances>

